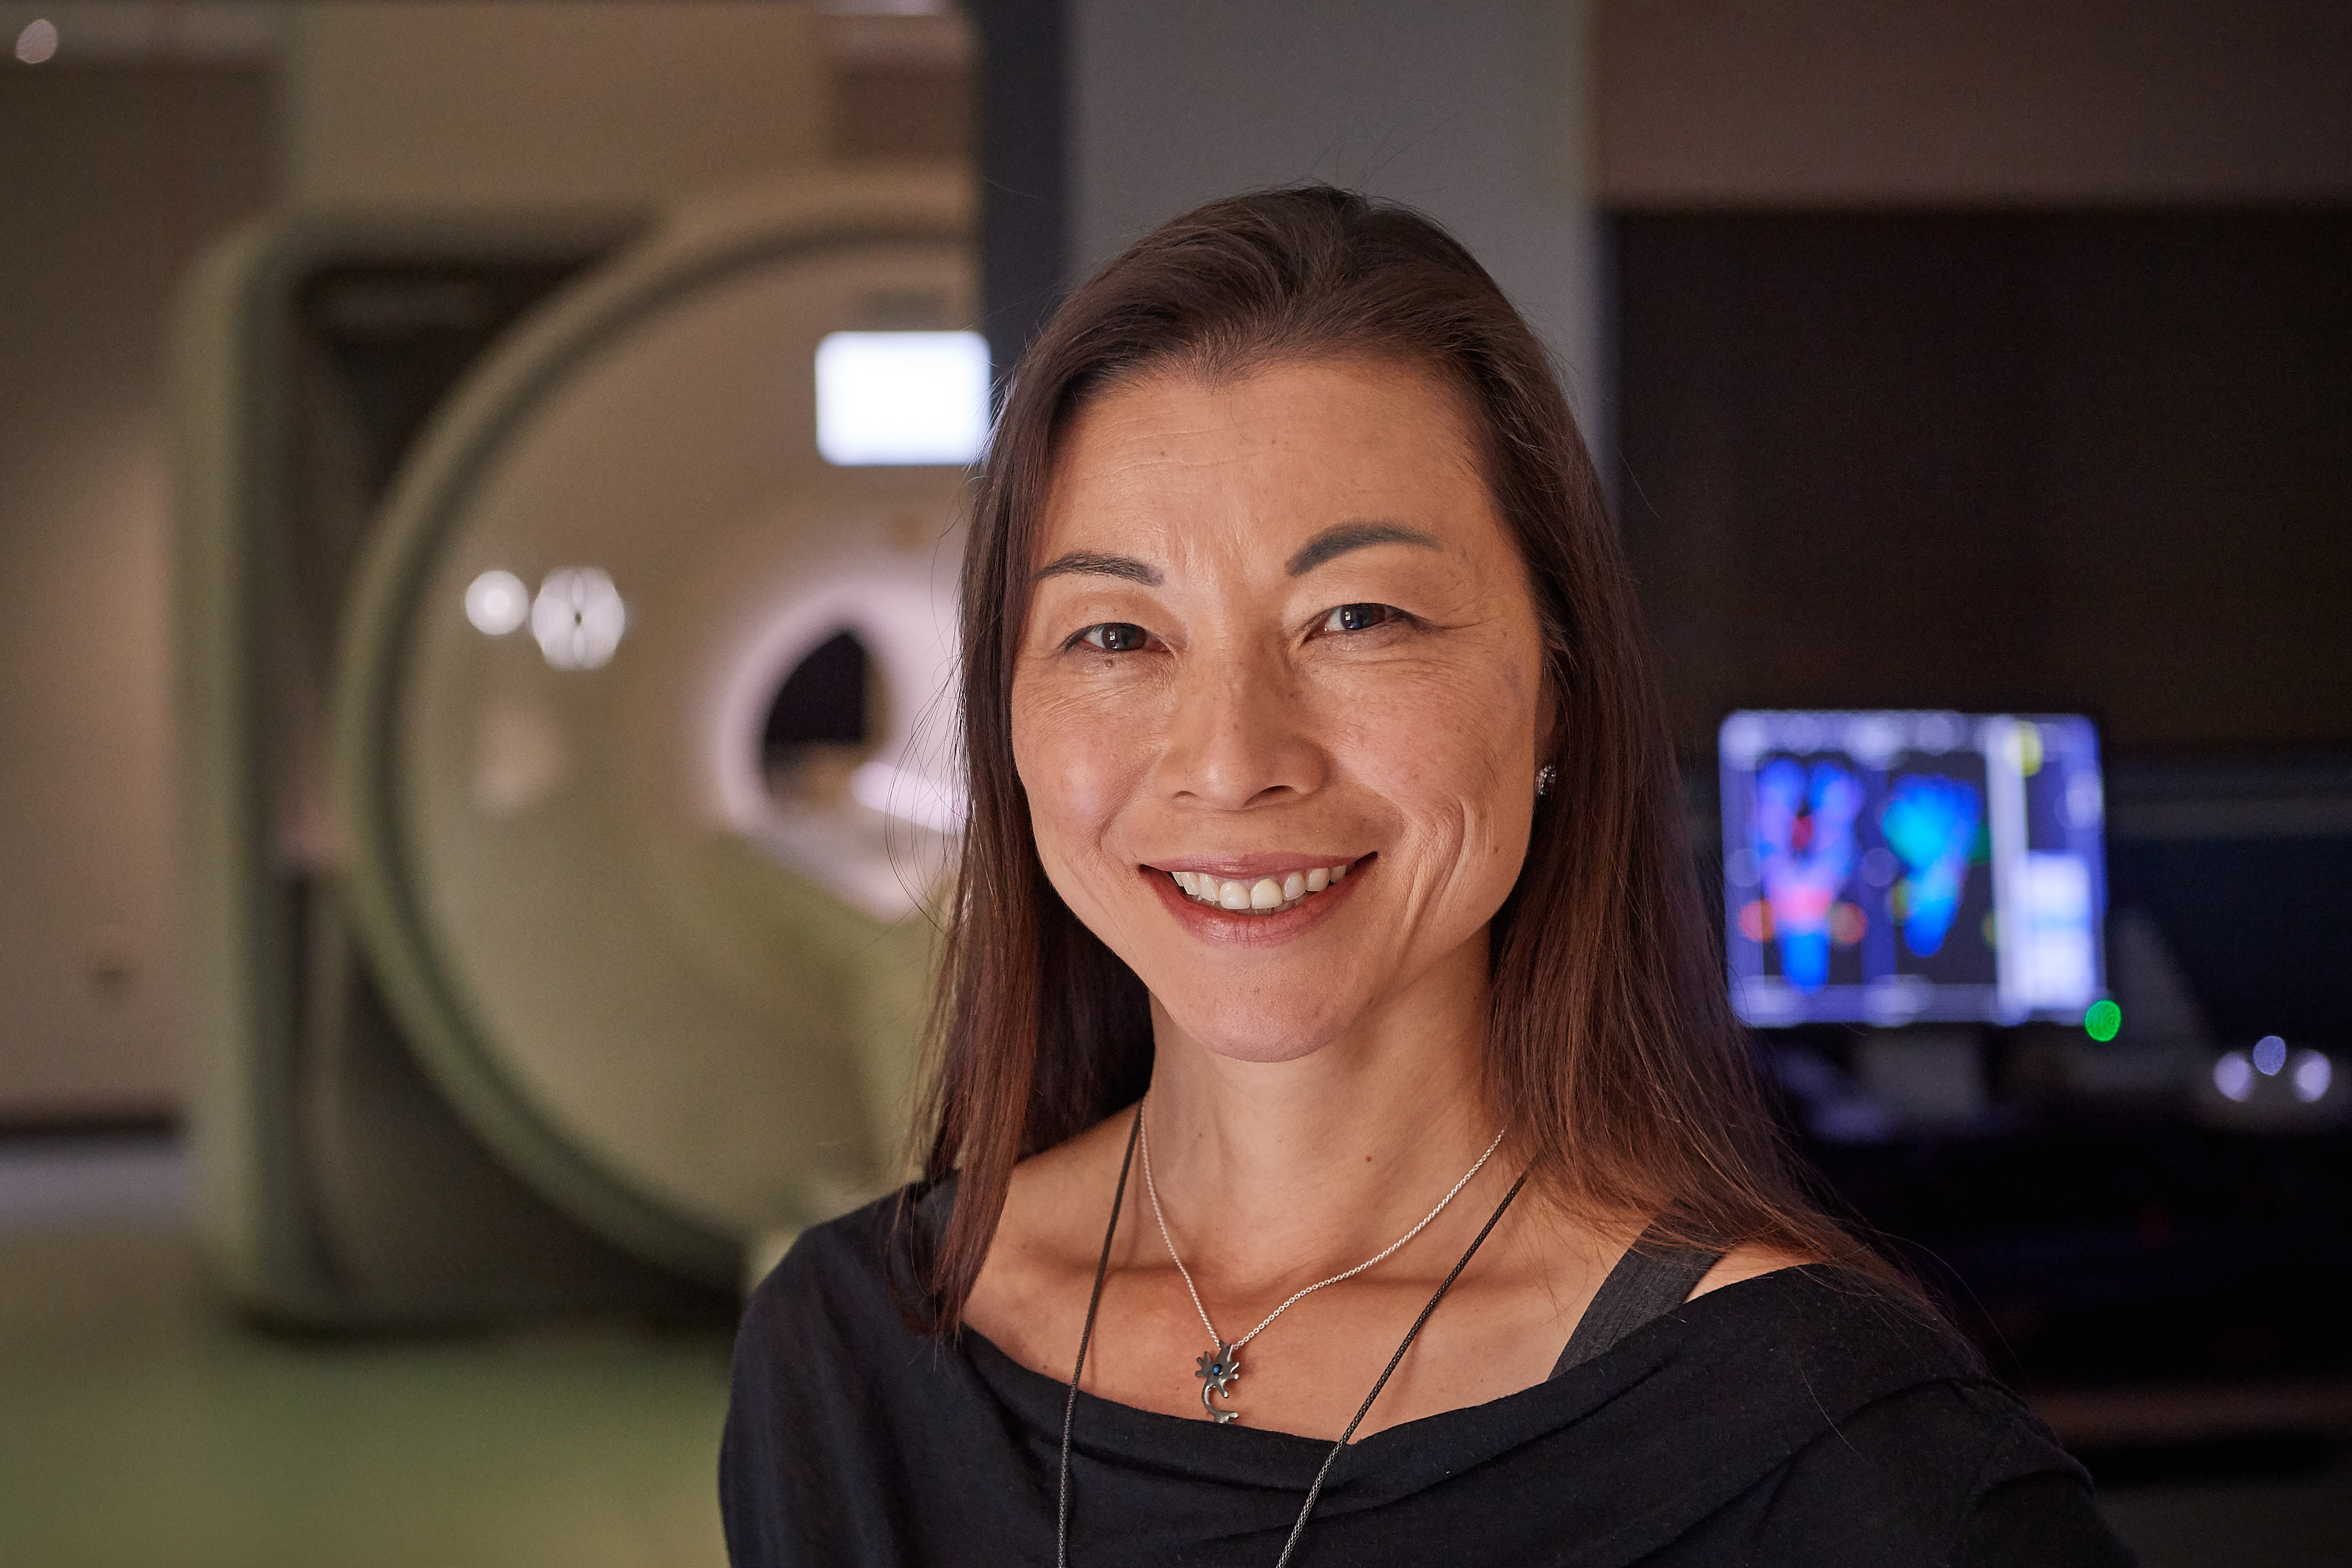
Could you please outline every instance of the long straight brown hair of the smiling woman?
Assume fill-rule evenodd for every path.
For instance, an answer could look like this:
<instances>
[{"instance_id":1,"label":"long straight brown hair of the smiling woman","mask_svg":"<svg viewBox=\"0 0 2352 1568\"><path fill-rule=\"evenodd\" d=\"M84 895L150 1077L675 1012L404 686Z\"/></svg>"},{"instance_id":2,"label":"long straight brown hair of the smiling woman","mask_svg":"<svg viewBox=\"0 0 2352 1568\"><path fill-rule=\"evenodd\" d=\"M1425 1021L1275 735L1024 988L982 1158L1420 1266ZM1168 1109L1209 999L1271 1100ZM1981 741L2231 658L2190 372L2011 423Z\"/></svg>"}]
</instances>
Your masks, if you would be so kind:
<instances>
[{"instance_id":1,"label":"long straight brown hair of the smiling woman","mask_svg":"<svg viewBox=\"0 0 2352 1568\"><path fill-rule=\"evenodd\" d=\"M960 1185L920 1248L917 1321L960 1324L1014 1164L1134 1103L1152 1070L1143 983L1047 882L1014 771L1014 658L1056 440L1084 400L1152 371L1327 357L1392 360L1465 393L1545 628L1559 773L1491 929L1486 1093L1519 1159L1583 1215L1663 1215L1677 1239L1882 1272L1804 1199L1731 1018L1632 585L1543 346L1437 223L1308 186L1145 235L1011 376L964 555L971 818L920 1124L922 1190Z\"/></svg>"}]
</instances>

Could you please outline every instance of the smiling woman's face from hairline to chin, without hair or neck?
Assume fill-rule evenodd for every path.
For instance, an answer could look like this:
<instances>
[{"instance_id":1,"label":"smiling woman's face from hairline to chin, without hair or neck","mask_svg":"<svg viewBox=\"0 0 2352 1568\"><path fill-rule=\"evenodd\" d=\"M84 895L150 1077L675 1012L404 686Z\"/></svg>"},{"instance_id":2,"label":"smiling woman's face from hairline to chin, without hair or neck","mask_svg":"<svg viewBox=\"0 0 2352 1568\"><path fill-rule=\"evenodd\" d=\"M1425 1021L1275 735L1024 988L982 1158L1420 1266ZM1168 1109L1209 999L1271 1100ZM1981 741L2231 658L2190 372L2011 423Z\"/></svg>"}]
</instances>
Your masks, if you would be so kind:
<instances>
[{"instance_id":1,"label":"smiling woman's face from hairline to chin, without hair or neck","mask_svg":"<svg viewBox=\"0 0 2352 1568\"><path fill-rule=\"evenodd\" d=\"M1073 418L1040 522L1014 762L1167 1020L1291 1060L1482 985L1543 639L1458 397L1374 360L1155 376Z\"/></svg>"}]
</instances>

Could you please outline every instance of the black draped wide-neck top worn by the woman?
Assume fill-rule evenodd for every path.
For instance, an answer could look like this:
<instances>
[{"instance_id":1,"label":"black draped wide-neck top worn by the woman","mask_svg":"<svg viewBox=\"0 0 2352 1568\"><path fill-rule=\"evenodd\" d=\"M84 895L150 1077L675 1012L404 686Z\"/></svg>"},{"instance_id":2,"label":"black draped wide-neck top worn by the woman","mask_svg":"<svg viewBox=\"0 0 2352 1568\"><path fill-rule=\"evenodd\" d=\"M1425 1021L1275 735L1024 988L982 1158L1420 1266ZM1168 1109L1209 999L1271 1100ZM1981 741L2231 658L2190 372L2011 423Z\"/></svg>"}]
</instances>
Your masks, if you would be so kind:
<instances>
[{"instance_id":1,"label":"black draped wide-neck top worn by the woman","mask_svg":"<svg viewBox=\"0 0 2352 1568\"><path fill-rule=\"evenodd\" d=\"M1054 1561L1068 1385L969 1331L910 1333L891 1213L807 1232L743 1314L720 1455L736 1568ZM1597 1338L1531 1389L1348 1448L1296 1563L2133 1561L1976 1354L1853 1274L1780 1269ZM1070 1563L1272 1568L1329 1448L1080 1394Z\"/></svg>"}]
</instances>

